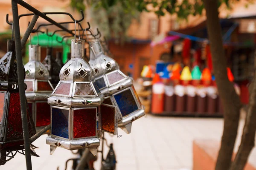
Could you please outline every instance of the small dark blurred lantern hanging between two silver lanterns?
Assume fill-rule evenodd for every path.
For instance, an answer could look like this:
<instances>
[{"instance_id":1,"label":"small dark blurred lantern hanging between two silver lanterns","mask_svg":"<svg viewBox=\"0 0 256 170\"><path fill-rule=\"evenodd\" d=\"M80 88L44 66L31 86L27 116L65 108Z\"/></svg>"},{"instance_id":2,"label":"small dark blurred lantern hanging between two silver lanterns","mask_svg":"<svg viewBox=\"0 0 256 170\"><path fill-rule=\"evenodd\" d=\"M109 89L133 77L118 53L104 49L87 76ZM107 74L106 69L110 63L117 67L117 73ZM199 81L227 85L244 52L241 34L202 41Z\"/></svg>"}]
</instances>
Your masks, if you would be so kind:
<instances>
[{"instance_id":1,"label":"small dark blurred lantern hanging between two silver lanterns","mask_svg":"<svg viewBox=\"0 0 256 170\"><path fill-rule=\"evenodd\" d=\"M49 72L49 80L52 83L53 87L55 88L60 80L59 73L60 73L61 67L58 65L58 63L55 61L54 57L52 56L52 48L47 48L46 53L47 53L47 56L45 57L42 64L47 68Z\"/></svg>"}]
</instances>

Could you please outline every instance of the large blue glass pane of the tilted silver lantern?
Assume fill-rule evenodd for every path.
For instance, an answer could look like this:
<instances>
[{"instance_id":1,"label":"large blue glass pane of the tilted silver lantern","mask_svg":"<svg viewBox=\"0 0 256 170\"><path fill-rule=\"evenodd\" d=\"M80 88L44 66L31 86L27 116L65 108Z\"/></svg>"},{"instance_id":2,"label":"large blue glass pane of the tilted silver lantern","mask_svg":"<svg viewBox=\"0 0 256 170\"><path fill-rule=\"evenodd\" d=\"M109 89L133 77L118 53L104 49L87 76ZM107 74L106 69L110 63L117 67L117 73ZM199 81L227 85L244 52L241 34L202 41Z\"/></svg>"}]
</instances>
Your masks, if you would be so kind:
<instances>
[{"instance_id":1,"label":"large blue glass pane of the tilted silver lantern","mask_svg":"<svg viewBox=\"0 0 256 170\"><path fill-rule=\"evenodd\" d=\"M123 91L122 93L114 95L116 99L116 103L121 111L122 116L126 116L136 110L138 110L138 106L134 100L134 97L131 93L131 90L128 89Z\"/></svg>"}]
</instances>

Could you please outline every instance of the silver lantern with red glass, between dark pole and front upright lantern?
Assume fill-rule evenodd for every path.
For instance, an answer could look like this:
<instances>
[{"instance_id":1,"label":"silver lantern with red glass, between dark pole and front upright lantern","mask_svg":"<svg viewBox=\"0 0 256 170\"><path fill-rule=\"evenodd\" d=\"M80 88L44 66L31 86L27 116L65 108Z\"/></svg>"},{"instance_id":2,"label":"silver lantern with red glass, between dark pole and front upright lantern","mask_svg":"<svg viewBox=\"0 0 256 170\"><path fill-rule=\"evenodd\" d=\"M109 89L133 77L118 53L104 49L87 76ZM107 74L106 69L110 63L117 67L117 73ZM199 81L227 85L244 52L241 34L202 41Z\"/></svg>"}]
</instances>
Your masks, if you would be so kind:
<instances>
[{"instance_id":1,"label":"silver lantern with red glass, between dark pole and front upright lantern","mask_svg":"<svg viewBox=\"0 0 256 170\"><path fill-rule=\"evenodd\" d=\"M49 81L49 72L41 61L41 47L29 45L29 62L24 66L27 85L26 98L37 131L50 124L51 114L47 98L51 96L53 88Z\"/></svg>"}]
</instances>

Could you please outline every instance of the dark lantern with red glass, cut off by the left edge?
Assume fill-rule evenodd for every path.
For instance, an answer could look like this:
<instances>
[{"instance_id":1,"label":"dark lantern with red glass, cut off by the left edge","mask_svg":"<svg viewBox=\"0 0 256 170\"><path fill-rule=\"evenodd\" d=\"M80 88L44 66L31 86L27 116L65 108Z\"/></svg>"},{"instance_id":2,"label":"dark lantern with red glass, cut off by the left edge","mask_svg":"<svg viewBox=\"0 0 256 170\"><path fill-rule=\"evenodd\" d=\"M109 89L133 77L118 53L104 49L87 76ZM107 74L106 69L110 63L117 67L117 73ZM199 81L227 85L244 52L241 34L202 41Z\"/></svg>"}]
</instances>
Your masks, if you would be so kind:
<instances>
[{"instance_id":1,"label":"dark lantern with red glass, cut off by the left edge","mask_svg":"<svg viewBox=\"0 0 256 170\"><path fill-rule=\"evenodd\" d=\"M8 52L0 59L0 165L9 160L6 157L12 151L24 149L14 41L7 40L7 47ZM35 127L28 105L27 119L31 137Z\"/></svg>"}]
</instances>

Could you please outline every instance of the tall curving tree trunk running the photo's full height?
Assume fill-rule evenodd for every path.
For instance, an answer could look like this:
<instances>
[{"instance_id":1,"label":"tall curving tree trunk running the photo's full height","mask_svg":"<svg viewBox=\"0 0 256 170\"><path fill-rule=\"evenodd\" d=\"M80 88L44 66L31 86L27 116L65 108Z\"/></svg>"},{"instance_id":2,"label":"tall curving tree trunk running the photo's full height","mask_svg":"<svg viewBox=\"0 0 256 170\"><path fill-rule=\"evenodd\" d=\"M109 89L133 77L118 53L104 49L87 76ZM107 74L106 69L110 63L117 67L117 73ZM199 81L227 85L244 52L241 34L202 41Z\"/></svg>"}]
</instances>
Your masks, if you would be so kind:
<instances>
[{"instance_id":1,"label":"tall curving tree trunk running the photo's full height","mask_svg":"<svg viewBox=\"0 0 256 170\"><path fill-rule=\"evenodd\" d=\"M204 0L204 6L207 16L207 31L212 53L212 65L218 93L224 107L224 130L215 170L228 170L236 141L242 105L233 84L227 78L227 59L222 44L217 2L218 0Z\"/></svg>"}]
</instances>

